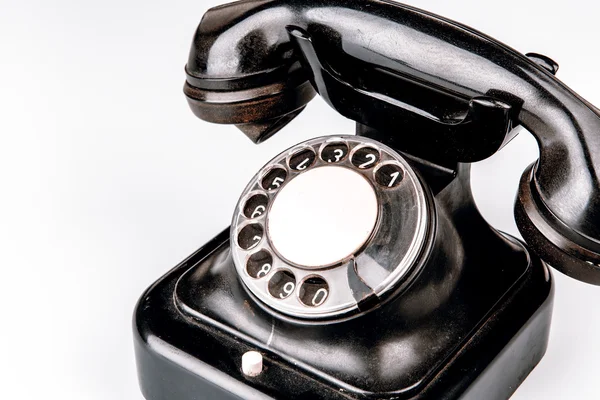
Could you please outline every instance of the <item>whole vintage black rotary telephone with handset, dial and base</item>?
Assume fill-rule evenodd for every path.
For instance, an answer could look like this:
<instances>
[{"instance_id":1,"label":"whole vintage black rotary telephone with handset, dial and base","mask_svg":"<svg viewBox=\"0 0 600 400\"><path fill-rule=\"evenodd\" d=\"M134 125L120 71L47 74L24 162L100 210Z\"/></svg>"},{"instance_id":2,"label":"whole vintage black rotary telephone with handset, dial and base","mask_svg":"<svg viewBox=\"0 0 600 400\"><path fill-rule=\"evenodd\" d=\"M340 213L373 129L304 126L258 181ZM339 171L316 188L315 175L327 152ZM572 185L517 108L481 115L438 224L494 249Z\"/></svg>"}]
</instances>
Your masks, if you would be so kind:
<instances>
[{"instance_id":1,"label":"whole vintage black rotary telephone with handset, dial and base","mask_svg":"<svg viewBox=\"0 0 600 400\"><path fill-rule=\"evenodd\" d=\"M245 0L202 19L193 112L260 143L318 93L357 123L276 156L232 225L135 314L148 400L506 399L542 358L547 265L600 285L600 110L558 65L387 0ZM537 139L515 206L469 163Z\"/></svg>"}]
</instances>

